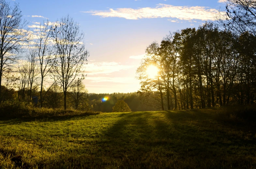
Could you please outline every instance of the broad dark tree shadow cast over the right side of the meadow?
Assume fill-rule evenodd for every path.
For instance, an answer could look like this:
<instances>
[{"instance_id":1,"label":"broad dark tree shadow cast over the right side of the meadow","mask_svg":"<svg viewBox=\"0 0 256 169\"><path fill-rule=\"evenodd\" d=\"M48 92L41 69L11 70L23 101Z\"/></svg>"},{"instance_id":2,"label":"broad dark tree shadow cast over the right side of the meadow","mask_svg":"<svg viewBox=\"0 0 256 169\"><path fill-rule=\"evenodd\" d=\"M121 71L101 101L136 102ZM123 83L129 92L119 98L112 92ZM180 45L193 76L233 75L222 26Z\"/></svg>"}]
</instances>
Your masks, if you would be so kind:
<instances>
[{"instance_id":1,"label":"broad dark tree shadow cast over the right side of the meadow","mask_svg":"<svg viewBox=\"0 0 256 169\"><path fill-rule=\"evenodd\" d=\"M122 118L105 131L100 144L109 146L102 153L121 160L123 166L139 168L159 167L159 159L166 167L173 162L185 168L251 167L255 138L217 122L212 111L120 114Z\"/></svg>"}]
</instances>

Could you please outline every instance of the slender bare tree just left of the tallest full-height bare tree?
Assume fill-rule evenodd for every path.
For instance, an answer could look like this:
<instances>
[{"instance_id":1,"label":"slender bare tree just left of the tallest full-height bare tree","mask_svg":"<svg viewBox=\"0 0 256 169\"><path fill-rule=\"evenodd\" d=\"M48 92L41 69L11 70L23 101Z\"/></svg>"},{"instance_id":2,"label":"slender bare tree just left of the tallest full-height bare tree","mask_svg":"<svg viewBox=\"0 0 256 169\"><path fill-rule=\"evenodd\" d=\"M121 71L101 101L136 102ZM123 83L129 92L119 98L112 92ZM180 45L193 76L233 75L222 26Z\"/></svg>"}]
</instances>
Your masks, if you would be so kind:
<instances>
[{"instance_id":1,"label":"slender bare tree just left of the tallest full-height bare tree","mask_svg":"<svg viewBox=\"0 0 256 169\"><path fill-rule=\"evenodd\" d=\"M43 82L45 77L52 72L53 63L55 62L56 55L54 55L54 44L52 43L51 28L53 23L47 20L43 25L39 25L36 29L37 39L35 40L35 50L40 62L40 107L43 107L44 97L42 96ZM54 84L54 83L53 83ZM51 87L50 87L51 88ZM50 89L49 88L49 89Z\"/></svg>"}]
</instances>

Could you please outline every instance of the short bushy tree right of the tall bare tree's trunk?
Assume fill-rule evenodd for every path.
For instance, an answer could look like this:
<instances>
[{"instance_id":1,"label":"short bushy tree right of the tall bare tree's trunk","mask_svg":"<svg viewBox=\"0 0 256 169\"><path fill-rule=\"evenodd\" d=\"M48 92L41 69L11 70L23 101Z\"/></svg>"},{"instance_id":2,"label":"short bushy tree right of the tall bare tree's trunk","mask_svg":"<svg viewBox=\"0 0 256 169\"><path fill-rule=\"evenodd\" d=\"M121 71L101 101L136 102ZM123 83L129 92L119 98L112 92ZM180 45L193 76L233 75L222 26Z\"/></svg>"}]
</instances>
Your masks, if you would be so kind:
<instances>
[{"instance_id":1,"label":"short bushy tree right of the tall bare tree's trunk","mask_svg":"<svg viewBox=\"0 0 256 169\"><path fill-rule=\"evenodd\" d=\"M84 101L86 101L86 94L88 91L85 89L85 85L82 83L81 79L75 80L73 84L70 87L70 96L71 96L71 102L74 105L75 109L77 110L79 105L86 104Z\"/></svg>"}]
</instances>

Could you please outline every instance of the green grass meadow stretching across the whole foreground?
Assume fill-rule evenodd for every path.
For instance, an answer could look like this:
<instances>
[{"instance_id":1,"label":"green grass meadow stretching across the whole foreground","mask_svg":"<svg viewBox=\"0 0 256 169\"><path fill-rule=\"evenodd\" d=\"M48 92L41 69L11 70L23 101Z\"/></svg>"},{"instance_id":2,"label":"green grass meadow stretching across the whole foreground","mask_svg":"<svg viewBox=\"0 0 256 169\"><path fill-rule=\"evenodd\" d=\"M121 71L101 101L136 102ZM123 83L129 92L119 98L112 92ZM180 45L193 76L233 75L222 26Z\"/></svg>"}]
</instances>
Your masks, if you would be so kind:
<instances>
[{"instance_id":1,"label":"green grass meadow stretching across the whole foreground","mask_svg":"<svg viewBox=\"0 0 256 169\"><path fill-rule=\"evenodd\" d=\"M215 113L0 120L0 168L256 168L255 126Z\"/></svg>"}]
</instances>

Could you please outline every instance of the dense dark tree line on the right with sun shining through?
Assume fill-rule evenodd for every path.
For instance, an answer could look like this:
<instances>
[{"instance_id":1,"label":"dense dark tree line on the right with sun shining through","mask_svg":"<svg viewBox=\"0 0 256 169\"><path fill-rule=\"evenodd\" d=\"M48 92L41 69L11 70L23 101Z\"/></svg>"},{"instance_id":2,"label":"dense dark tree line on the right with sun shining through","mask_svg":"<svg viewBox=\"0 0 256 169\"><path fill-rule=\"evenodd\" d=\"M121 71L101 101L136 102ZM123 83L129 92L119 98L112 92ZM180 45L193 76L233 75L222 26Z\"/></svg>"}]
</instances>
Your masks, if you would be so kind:
<instances>
[{"instance_id":1,"label":"dense dark tree line on the right with sun shining through","mask_svg":"<svg viewBox=\"0 0 256 169\"><path fill-rule=\"evenodd\" d=\"M228 0L216 22L147 46L136 72L141 96L155 94L162 110L255 104L255 7L253 0ZM155 77L146 73L150 65L157 67Z\"/></svg>"}]
</instances>

